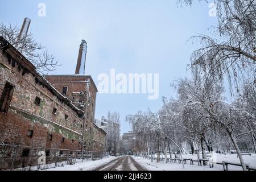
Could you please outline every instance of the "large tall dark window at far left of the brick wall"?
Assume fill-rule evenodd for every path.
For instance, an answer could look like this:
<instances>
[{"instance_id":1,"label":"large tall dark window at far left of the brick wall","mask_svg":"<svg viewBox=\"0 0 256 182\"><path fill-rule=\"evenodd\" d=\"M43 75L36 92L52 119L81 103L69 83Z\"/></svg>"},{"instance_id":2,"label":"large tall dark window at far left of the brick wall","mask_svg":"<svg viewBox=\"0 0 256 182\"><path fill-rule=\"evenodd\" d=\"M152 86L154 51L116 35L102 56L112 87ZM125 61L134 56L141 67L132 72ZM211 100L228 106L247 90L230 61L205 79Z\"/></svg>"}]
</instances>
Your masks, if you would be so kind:
<instances>
[{"instance_id":1,"label":"large tall dark window at far left of the brick wall","mask_svg":"<svg viewBox=\"0 0 256 182\"><path fill-rule=\"evenodd\" d=\"M0 111L7 113L10 106L11 97L13 97L13 90L14 86L9 84L9 82L6 82L0 99Z\"/></svg>"}]
</instances>

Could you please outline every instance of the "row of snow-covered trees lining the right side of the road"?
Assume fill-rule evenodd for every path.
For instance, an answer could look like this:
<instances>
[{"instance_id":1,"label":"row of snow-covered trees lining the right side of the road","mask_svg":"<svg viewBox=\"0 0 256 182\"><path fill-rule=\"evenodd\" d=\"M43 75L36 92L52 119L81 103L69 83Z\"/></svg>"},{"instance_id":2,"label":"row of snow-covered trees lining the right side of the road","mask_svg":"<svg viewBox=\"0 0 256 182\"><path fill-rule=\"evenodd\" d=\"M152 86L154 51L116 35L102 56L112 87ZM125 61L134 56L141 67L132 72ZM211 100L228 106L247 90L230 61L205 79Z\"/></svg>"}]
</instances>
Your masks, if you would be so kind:
<instances>
[{"instance_id":1,"label":"row of snow-covered trees lining the right side of the road","mask_svg":"<svg viewBox=\"0 0 256 182\"><path fill-rule=\"evenodd\" d=\"M192 1L179 1L191 5ZM191 78L174 83L177 98L163 98L157 112L128 115L141 151L158 153L175 150L184 153L183 144L206 150L234 148L243 170L239 141L256 140L256 79L255 39L256 1L214 1L217 5L218 26L213 34L197 35L200 48L191 55ZM225 81L229 82L233 101L224 97ZM197 151L197 154L199 152ZM167 155L165 155L167 158Z\"/></svg>"}]
</instances>

